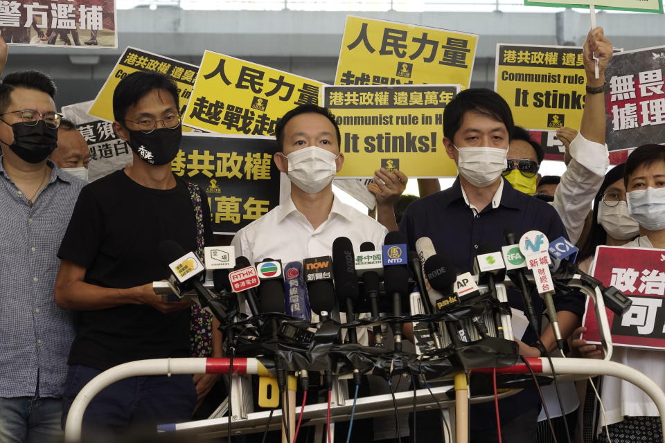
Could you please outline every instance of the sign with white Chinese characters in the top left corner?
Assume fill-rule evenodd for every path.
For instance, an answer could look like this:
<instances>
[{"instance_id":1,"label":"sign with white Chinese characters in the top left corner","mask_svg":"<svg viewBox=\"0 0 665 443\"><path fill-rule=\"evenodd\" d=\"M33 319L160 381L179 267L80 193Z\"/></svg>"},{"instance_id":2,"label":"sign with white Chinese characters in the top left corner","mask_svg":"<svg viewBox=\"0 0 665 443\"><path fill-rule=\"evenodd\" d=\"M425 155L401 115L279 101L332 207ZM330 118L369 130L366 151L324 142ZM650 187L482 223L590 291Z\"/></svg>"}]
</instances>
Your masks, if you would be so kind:
<instances>
[{"instance_id":1,"label":"sign with white Chinese characters in the top left corner","mask_svg":"<svg viewBox=\"0 0 665 443\"><path fill-rule=\"evenodd\" d=\"M118 47L114 0L1 1L0 29L8 44Z\"/></svg>"}]
</instances>

